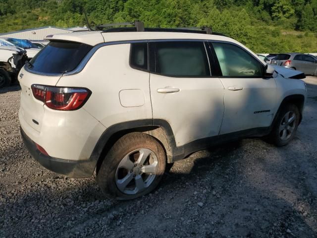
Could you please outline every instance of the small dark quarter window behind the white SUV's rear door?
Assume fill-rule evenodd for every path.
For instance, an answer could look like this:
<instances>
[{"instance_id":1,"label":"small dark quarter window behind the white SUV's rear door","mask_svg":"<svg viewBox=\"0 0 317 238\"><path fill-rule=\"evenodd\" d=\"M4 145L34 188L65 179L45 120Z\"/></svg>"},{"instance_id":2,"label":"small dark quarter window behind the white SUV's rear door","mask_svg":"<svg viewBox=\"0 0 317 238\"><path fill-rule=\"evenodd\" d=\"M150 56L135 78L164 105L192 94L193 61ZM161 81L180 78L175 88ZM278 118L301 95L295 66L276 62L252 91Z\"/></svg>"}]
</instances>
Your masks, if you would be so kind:
<instances>
[{"instance_id":1,"label":"small dark quarter window behind the white SUV's rear door","mask_svg":"<svg viewBox=\"0 0 317 238\"><path fill-rule=\"evenodd\" d=\"M132 68L148 70L148 44L132 43L130 54L130 65Z\"/></svg>"}]
</instances>

